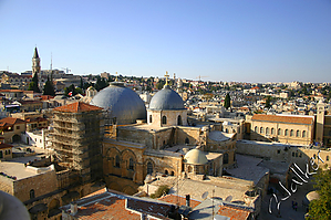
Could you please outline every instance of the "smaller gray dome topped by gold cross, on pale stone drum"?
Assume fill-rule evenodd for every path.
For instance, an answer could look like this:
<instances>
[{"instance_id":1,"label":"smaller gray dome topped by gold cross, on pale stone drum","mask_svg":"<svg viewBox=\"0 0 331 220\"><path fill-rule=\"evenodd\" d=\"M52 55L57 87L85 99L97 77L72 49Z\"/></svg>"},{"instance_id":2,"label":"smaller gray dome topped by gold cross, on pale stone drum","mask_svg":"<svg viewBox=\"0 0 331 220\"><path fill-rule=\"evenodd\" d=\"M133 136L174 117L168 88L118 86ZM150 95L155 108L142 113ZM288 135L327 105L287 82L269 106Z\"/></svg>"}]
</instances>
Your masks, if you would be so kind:
<instances>
[{"instance_id":1,"label":"smaller gray dome topped by gold cross, on pale stone drum","mask_svg":"<svg viewBox=\"0 0 331 220\"><path fill-rule=\"evenodd\" d=\"M149 109L185 109L182 97L168 85L158 91L151 99Z\"/></svg>"}]
</instances>

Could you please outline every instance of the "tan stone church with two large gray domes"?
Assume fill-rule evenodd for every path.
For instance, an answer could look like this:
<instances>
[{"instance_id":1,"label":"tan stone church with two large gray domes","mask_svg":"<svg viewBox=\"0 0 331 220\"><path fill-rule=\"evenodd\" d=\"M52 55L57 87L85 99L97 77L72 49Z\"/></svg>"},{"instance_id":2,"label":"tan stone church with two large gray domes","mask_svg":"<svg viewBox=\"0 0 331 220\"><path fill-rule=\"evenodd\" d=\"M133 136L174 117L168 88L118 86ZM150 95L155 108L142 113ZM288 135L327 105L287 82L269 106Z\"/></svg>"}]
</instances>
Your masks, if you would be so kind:
<instances>
[{"instance_id":1,"label":"tan stone church with two large gray domes","mask_svg":"<svg viewBox=\"0 0 331 220\"><path fill-rule=\"evenodd\" d=\"M110 128L113 135L103 140L103 172L107 187L134 193L147 175L221 176L223 167L235 163L235 157L229 154L235 150L235 134L215 140L209 138L209 133L218 129L216 126L188 126L184 102L167 84L167 77L166 74L166 85L151 99L146 123L130 124L143 118L145 108L139 107L133 91L116 83L101 91L91 102L108 107L112 117L117 118L117 124ZM133 113L135 111L137 113ZM211 147L208 147L209 143ZM189 151L197 147L199 150ZM192 163L196 160L188 159L189 155L198 155L205 160L201 165Z\"/></svg>"}]
</instances>

